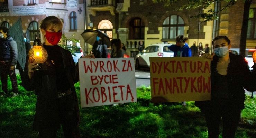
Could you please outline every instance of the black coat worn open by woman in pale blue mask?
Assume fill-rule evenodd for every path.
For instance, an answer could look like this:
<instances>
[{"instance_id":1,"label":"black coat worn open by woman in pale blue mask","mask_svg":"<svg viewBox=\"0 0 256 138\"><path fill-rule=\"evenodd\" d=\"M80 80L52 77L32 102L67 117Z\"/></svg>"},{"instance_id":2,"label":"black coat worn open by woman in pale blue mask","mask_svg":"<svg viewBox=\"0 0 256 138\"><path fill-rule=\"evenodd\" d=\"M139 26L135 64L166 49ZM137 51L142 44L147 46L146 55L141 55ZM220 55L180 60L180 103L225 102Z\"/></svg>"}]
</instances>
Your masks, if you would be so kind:
<instances>
[{"instance_id":1,"label":"black coat worn open by woman in pale blue mask","mask_svg":"<svg viewBox=\"0 0 256 138\"><path fill-rule=\"evenodd\" d=\"M229 93L229 100L232 104L228 105L230 108L243 109L245 101L245 90L255 91L256 90L256 67L250 71L247 63L241 55L234 55L229 53L230 63L227 69L227 87ZM216 91L217 83L217 63L218 57L214 56L211 61L211 95ZM255 65L254 65L255 66ZM210 108L214 102L214 98L211 97L210 101L198 101L195 105L198 106L202 111Z\"/></svg>"}]
</instances>

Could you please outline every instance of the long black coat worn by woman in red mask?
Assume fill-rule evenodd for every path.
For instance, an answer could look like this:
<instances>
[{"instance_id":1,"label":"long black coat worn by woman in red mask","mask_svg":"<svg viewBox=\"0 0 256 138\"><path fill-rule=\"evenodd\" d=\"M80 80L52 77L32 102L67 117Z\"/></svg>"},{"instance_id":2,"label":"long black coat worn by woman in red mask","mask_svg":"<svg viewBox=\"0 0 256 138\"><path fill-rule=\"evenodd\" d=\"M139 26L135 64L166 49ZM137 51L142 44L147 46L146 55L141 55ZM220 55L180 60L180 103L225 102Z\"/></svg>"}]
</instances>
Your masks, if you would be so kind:
<instances>
[{"instance_id":1,"label":"long black coat worn by woman in red mask","mask_svg":"<svg viewBox=\"0 0 256 138\"><path fill-rule=\"evenodd\" d=\"M72 58L70 51L60 48L63 58L64 70L70 84L71 91L73 91L73 101L75 101L77 124L79 122L79 108L75 92L74 83L79 81L78 64ZM34 91L37 95L36 114L34 120L34 129L44 128L59 128L60 118L58 115L58 100L57 100L57 86L54 66L52 62L47 60L45 63L47 71L36 71L31 80L28 77L28 57L24 68L24 79L22 86L28 91ZM68 101L67 101L67 104Z\"/></svg>"}]
</instances>

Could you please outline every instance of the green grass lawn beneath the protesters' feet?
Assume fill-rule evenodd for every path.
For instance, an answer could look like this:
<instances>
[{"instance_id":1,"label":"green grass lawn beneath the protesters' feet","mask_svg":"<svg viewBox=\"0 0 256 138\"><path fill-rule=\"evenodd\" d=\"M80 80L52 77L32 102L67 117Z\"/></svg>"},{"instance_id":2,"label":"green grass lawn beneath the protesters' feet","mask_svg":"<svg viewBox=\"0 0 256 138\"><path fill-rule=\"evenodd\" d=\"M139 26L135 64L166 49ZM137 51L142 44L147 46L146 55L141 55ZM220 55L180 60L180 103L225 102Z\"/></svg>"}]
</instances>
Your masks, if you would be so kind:
<instances>
[{"instance_id":1,"label":"green grass lawn beneath the protesters' feet","mask_svg":"<svg viewBox=\"0 0 256 138\"><path fill-rule=\"evenodd\" d=\"M0 138L36 138L32 123L36 96L21 86L19 95L0 97ZM11 89L10 80L8 89ZM1 83L0 83L1 87ZM75 85L80 99L79 83ZM80 108L83 138L207 138L204 115L194 102L154 104L150 88L137 88L138 102L122 105ZM256 98L246 99L236 138L256 138ZM63 137L60 129L58 138ZM222 138L220 136L220 138Z\"/></svg>"}]
</instances>

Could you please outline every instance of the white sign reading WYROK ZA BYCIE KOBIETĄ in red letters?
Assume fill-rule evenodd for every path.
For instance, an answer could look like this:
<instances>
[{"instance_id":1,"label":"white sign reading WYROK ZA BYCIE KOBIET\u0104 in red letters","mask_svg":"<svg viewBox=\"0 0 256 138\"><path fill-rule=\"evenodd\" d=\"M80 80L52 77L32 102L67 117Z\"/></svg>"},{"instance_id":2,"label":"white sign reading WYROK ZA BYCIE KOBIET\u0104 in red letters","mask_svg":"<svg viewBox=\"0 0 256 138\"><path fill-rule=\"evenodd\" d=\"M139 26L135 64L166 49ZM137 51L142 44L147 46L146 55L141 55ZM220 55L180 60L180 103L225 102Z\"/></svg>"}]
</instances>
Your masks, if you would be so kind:
<instances>
[{"instance_id":1,"label":"white sign reading WYROK ZA BYCIE KOBIET\u0104 in red letters","mask_svg":"<svg viewBox=\"0 0 256 138\"><path fill-rule=\"evenodd\" d=\"M133 58L79 59L81 106L137 102Z\"/></svg>"}]
</instances>

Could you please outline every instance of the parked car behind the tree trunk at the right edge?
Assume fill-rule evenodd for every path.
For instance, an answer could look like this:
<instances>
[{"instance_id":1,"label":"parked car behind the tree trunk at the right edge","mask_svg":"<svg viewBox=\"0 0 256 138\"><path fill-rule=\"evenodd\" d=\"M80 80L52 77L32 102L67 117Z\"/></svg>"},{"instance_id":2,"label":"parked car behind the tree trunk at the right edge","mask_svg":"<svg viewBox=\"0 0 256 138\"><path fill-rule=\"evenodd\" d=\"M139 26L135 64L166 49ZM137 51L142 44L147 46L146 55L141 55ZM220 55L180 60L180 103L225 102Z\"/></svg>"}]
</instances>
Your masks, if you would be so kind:
<instances>
[{"instance_id":1,"label":"parked car behind the tree trunk at the right edge","mask_svg":"<svg viewBox=\"0 0 256 138\"><path fill-rule=\"evenodd\" d=\"M253 66L253 52L256 51L256 49L245 49L245 61L248 63L248 66L250 69ZM240 49L239 48L230 48L229 52L239 55Z\"/></svg>"}]
</instances>

